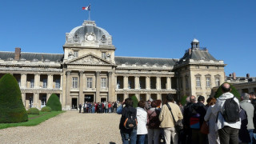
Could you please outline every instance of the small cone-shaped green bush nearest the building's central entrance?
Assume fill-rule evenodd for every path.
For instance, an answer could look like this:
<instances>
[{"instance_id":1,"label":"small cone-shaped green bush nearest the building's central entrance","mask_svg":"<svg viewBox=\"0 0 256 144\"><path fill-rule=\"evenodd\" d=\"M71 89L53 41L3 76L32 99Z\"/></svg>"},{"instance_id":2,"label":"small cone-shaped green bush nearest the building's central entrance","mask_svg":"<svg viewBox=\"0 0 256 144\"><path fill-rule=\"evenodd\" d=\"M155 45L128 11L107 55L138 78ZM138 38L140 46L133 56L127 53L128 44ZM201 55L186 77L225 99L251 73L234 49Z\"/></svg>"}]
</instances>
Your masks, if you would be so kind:
<instances>
[{"instance_id":1,"label":"small cone-shaped green bush nearest the building's central entrance","mask_svg":"<svg viewBox=\"0 0 256 144\"><path fill-rule=\"evenodd\" d=\"M56 94L50 95L46 106L49 106L53 111L62 111L62 104L59 102L58 96Z\"/></svg>"}]
</instances>

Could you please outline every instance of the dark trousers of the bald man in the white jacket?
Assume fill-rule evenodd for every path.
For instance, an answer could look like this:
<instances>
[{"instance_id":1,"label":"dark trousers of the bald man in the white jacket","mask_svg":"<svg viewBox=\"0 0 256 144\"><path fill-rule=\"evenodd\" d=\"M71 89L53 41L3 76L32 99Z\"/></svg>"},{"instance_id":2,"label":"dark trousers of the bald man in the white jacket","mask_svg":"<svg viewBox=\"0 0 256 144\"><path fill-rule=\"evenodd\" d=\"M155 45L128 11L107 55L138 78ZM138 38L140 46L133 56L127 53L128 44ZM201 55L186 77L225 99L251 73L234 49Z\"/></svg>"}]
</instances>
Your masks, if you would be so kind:
<instances>
[{"instance_id":1,"label":"dark trousers of the bald man in the white jacket","mask_svg":"<svg viewBox=\"0 0 256 144\"><path fill-rule=\"evenodd\" d=\"M238 131L230 126L224 126L218 130L218 137L221 144L238 144Z\"/></svg>"}]
</instances>

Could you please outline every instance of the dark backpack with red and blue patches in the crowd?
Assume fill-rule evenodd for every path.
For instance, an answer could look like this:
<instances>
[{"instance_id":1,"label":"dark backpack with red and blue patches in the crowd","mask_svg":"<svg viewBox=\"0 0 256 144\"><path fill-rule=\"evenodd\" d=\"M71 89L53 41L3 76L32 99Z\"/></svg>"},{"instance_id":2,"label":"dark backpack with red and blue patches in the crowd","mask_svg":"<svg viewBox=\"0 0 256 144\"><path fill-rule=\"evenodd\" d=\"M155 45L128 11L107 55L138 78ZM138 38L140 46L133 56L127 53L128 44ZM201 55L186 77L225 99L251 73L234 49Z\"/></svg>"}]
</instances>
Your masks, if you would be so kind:
<instances>
[{"instance_id":1,"label":"dark backpack with red and blue patches in the crowd","mask_svg":"<svg viewBox=\"0 0 256 144\"><path fill-rule=\"evenodd\" d=\"M198 113L197 108L197 106L192 106L192 114L190 116L190 128L199 130L201 114Z\"/></svg>"}]
</instances>

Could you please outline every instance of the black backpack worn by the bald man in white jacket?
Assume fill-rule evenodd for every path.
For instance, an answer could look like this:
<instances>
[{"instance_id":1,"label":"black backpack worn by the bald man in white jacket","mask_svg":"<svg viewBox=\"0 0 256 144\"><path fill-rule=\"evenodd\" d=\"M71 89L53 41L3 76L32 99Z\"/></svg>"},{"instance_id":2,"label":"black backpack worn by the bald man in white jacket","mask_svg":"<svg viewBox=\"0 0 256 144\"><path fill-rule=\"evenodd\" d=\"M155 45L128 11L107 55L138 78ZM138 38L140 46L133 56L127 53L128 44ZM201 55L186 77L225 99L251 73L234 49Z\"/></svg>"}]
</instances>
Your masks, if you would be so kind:
<instances>
[{"instance_id":1,"label":"black backpack worn by the bald man in white jacket","mask_svg":"<svg viewBox=\"0 0 256 144\"><path fill-rule=\"evenodd\" d=\"M238 122L240 120L240 108L238 103L234 101L234 97L226 99L223 107L221 114L226 122Z\"/></svg>"}]
</instances>

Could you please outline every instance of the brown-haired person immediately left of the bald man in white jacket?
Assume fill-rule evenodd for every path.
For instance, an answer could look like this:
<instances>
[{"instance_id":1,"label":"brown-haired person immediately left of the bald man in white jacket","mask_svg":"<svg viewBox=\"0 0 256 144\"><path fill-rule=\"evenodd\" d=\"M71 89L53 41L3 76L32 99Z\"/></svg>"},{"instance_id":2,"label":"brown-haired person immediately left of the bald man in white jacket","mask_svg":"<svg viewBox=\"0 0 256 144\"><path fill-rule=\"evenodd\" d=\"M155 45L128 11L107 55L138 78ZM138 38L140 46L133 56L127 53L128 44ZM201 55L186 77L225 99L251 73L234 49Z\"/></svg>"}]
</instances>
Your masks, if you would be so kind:
<instances>
[{"instance_id":1,"label":"brown-haired person immediately left of the bald man in white jacket","mask_svg":"<svg viewBox=\"0 0 256 144\"><path fill-rule=\"evenodd\" d=\"M209 107L208 107L208 110L206 111L206 115L204 119L209 126L208 141L209 141L209 144L219 144L220 142L218 138L218 131L215 130L216 116L211 111L211 109L214 107L216 103L216 99L208 98L206 102Z\"/></svg>"}]
</instances>

